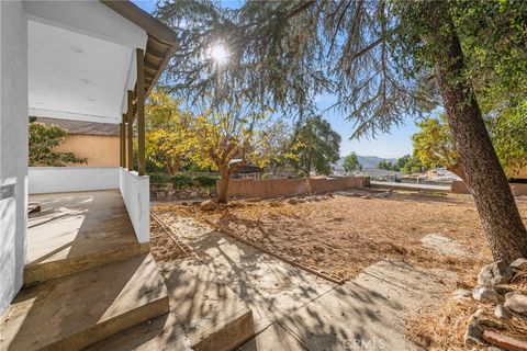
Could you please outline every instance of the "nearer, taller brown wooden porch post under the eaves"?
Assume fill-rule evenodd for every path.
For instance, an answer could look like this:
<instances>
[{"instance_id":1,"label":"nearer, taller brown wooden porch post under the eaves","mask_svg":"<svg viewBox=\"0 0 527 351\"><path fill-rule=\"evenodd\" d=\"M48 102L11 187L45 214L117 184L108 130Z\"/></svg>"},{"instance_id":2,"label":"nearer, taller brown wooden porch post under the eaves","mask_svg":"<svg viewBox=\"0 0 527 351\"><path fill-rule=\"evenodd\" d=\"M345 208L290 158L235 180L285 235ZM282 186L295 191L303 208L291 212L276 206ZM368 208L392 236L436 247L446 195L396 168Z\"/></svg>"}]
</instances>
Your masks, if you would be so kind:
<instances>
[{"instance_id":1,"label":"nearer, taller brown wooden porch post under the eaves","mask_svg":"<svg viewBox=\"0 0 527 351\"><path fill-rule=\"evenodd\" d=\"M136 49L137 61L137 160L139 176L145 174L145 53Z\"/></svg>"}]
</instances>

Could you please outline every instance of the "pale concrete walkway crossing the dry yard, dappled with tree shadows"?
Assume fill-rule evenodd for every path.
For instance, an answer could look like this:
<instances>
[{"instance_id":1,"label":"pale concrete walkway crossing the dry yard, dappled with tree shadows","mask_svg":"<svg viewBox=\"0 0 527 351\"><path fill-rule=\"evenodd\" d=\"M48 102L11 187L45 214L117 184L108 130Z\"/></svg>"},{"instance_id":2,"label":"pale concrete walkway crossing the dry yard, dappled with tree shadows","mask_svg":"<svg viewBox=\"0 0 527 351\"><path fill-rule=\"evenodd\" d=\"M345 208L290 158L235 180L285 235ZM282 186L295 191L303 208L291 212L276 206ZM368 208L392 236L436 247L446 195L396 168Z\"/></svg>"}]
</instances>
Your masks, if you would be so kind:
<instances>
[{"instance_id":1,"label":"pale concrete walkway crossing the dry yard, dappled with tree shadows","mask_svg":"<svg viewBox=\"0 0 527 351\"><path fill-rule=\"evenodd\" d=\"M251 309L257 336L240 350L414 350L405 320L455 286L455 274L381 261L354 281L329 283L190 218L171 227L216 284Z\"/></svg>"}]
</instances>

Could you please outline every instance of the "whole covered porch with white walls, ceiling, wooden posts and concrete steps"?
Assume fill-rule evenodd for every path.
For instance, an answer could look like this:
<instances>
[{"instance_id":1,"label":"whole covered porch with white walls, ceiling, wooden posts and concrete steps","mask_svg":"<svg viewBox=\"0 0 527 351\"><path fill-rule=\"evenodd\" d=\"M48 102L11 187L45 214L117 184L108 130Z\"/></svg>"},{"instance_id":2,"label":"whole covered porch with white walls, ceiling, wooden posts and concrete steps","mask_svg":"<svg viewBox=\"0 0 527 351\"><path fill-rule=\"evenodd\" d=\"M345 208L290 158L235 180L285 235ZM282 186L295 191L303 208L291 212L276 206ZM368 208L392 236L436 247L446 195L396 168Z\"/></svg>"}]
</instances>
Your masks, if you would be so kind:
<instances>
[{"instance_id":1,"label":"whole covered porch with white walls, ceiling, wooden posts and concrete steps","mask_svg":"<svg viewBox=\"0 0 527 351\"><path fill-rule=\"evenodd\" d=\"M176 35L128 1L0 7L0 349L78 350L169 310L148 253L144 103ZM120 167L27 167L29 116L119 125Z\"/></svg>"}]
</instances>

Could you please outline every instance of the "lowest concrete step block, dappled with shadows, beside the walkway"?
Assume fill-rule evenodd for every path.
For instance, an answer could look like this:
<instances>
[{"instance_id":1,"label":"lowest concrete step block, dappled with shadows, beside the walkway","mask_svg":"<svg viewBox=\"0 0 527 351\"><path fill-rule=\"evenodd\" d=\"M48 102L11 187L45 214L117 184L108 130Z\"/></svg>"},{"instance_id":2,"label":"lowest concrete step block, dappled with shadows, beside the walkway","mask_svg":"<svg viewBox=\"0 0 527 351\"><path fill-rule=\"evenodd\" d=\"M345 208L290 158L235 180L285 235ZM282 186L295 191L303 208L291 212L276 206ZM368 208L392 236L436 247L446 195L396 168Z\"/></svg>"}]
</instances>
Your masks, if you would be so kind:
<instances>
[{"instance_id":1,"label":"lowest concrete step block, dappled with shadows, beside the walkway","mask_svg":"<svg viewBox=\"0 0 527 351\"><path fill-rule=\"evenodd\" d=\"M255 335L253 312L201 260L165 264L162 275L172 314L193 350L233 350Z\"/></svg>"}]
</instances>

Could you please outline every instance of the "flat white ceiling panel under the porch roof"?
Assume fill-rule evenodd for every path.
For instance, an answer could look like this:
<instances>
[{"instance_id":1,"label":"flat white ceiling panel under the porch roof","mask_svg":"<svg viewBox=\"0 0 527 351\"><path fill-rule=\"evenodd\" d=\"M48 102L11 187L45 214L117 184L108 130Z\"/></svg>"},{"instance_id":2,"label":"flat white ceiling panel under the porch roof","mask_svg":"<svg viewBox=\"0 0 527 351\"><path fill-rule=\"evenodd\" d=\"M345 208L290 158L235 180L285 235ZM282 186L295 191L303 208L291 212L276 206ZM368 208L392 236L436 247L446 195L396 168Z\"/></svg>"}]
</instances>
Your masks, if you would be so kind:
<instances>
[{"instance_id":1,"label":"flat white ceiling panel under the porch roof","mask_svg":"<svg viewBox=\"0 0 527 351\"><path fill-rule=\"evenodd\" d=\"M134 48L30 20L30 114L119 123L134 59Z\"/></svg>"}]
</instances>

